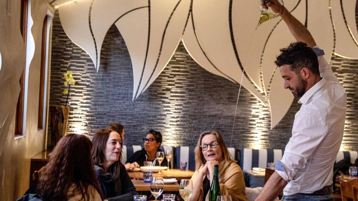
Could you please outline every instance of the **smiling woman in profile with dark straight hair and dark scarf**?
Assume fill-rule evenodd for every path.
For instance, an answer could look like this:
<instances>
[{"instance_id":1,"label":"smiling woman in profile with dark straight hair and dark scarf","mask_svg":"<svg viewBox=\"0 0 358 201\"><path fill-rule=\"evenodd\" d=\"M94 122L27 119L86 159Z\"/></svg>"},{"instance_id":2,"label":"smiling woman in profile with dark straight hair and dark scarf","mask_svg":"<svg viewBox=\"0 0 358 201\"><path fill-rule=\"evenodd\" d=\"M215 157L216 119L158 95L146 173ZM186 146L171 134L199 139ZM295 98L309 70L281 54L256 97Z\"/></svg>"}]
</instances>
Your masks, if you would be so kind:
<instances>
[{"instance_id":1,"label":"smiling woman in profile with dark straight hair and dark scarf","mask_svg":"<svg viewBox=\"0 0 358 201\"><path fill-rule=\"evenodd\" d=\"M112 129L100 129L93 137L92 143L96 176L106 199L132 201L137 191L120 161L121 135Z\"/></svg>"}]
</instances>

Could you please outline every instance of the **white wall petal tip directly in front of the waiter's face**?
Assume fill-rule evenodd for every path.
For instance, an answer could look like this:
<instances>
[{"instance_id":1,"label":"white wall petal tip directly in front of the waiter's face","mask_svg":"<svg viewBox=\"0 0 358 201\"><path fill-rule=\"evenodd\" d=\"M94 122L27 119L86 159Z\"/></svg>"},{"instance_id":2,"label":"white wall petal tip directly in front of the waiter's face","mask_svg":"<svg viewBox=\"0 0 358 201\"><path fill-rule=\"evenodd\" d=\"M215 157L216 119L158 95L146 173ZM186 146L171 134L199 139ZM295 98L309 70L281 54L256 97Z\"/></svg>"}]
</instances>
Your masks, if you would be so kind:
<instances>
[{"instance_id":1,"label":"white wall petal tip directly in front of the waiter's face","mask_svg":"<svg viewBox=\"0 0 358 201\"><path fill-rule=\"evenodd\" d=\"M271 129L284 118L290 109L294 96L289 89L284 89L284 79L280 70L277 69L272 79L269 105L271 113Z\"/></svg>"}]
</instances>

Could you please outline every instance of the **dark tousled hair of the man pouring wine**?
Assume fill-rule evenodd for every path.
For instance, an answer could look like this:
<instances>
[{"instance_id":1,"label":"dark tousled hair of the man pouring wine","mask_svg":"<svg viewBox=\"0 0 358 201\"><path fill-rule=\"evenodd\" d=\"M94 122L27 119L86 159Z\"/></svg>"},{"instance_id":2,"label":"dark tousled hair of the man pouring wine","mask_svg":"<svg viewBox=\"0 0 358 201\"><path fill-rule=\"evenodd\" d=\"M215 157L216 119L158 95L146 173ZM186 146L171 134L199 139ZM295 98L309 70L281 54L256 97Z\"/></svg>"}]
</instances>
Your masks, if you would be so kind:
<instances>
[{"instance_id":1,"label":"dark tousled hair of the man pouring wine","mask_svg":"<svg viewBox=\"0 0 358 201\"><path fill-rule=\"evenodd\" d=\"M319 75L319 64L316 53L306 43L291 43L287 48L280 49L281 54L276 57L275 64L281 66L290 65L292 71L299 74L304 67L313 74Z\"/></svg>"}]
</instances>

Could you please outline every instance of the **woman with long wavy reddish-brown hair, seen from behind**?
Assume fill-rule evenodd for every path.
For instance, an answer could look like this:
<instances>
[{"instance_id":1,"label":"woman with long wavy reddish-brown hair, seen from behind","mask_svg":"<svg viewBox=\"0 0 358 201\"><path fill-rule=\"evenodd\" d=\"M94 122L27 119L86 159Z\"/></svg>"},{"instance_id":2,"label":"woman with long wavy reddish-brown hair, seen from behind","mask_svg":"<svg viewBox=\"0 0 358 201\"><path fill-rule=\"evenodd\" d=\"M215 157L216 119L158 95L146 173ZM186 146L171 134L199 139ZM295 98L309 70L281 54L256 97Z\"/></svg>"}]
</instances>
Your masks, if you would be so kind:
<instances>
[{"instance_id":1,"label":"woman with long wavy reddish-brown hair, seen from behind","mask_svg":"<svg viewBox=\"0 0 358 201\"><path fill-rule=\"evenodd\" d=\"M37 193L44 200L99 201L105 199L91 158L92 142L87 136L68 134L53 149Z\"/></svg>"}]
</instances>

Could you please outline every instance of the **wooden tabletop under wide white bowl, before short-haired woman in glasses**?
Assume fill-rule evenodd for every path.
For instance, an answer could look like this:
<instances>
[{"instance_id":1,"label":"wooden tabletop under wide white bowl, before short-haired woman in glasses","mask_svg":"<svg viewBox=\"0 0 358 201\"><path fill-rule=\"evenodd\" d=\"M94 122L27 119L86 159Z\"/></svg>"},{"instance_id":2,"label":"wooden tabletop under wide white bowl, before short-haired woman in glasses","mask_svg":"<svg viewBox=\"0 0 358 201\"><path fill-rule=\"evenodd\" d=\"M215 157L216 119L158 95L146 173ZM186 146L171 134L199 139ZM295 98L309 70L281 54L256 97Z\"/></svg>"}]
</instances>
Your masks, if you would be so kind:
<instances>
[{"instance_id":1,"label":"wooden tabletop under wide white bowl, before short-haired woman in glasses","mask_svg":"<svg viewBox=\"0 0 358 201\"><path fill-rule=\"evenodd\" d=\"M192 178L194 172L187 170L187 171L182 171L179 169L170 169L169 171L167 170L163 170L161 171L161 173L153 173L153 177L163 177L165 179L169 179L169 178L176 178L176 180L178 180L180 182L180 180L182 179L190 179ZM143 179L143 172L142 171L138 171L138 172L128 172L128 175L130 178L134 178L134 179L139 179L142 180Z\"/></svg>"}]
</instances>

